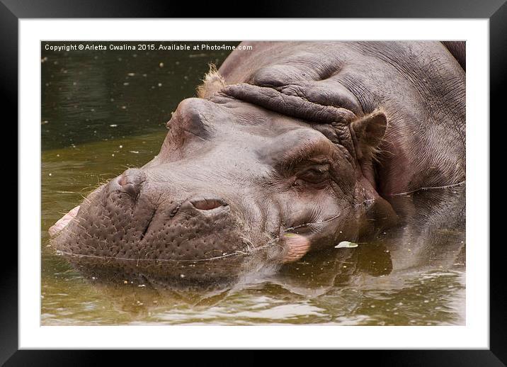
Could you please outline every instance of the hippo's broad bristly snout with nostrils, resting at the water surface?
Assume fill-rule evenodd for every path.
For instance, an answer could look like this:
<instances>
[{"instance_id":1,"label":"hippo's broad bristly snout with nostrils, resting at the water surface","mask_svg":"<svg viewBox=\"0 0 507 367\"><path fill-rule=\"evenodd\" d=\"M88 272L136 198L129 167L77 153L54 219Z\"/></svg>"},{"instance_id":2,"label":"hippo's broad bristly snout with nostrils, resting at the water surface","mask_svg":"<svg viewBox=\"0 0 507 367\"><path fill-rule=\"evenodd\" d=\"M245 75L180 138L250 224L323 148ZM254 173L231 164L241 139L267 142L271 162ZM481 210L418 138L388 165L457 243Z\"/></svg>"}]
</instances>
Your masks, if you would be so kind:
<instances>
[{"instance_id":1,"label":"hippo's broad bristly snout with nostrils, resting at the water surface","mask_svg":"<svg viewBox=\"0 0 507 367\"><path fill-rule=\"evenodd\" d=\"M127 169L92 193L53 243L93 276L120 279L132 267L166 278L234 276L254 250L237 206L205 187Z\"/></svg>"}]
</instances>

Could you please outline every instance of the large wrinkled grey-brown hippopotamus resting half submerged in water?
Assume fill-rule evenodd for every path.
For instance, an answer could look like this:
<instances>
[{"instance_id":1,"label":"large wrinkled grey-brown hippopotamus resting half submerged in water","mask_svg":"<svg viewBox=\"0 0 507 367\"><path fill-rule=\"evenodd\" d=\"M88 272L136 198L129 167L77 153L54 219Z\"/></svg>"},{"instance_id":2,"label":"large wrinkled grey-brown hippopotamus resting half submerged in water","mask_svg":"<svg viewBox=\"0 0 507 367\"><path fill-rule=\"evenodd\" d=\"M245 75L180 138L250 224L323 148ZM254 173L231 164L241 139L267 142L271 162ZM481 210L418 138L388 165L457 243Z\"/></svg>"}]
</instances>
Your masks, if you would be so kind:
<instances>
[{"instance_id":1,"label":"large wrinkled grey-brown hippopotamus resting half submerged in water","mask_svg":"<svg viewBox=\"0 0 507 367\"><path fill-rule=\"evenodd\" d=\"M169 282L277 269L404 225L415 210L399 196L465 183L464 43L242 45L179 103L154 159L50 229L77 269Z\"/></svg>"}]
</instances>

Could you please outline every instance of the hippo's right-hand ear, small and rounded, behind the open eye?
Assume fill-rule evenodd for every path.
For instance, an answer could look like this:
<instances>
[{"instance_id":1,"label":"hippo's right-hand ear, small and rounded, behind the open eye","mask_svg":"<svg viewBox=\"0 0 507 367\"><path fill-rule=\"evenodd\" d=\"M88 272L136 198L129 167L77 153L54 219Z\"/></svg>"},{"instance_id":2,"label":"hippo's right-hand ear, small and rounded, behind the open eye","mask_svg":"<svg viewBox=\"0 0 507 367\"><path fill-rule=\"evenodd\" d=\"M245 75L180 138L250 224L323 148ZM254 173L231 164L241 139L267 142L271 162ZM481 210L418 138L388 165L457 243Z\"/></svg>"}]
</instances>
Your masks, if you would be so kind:
<instances>
[{"instance_id":1,"label":"hippo's right-hand ear, small and rounded, behind the open eye","mask_svg":"<svg viewBox=\"0 0 507 367\"><path fill-rule=\"evenodd\" d=\"M373 111L351 123L355 153L358 159L372 157L387 128L387 117L382 111Z\"/></svg>"}]
</instances>

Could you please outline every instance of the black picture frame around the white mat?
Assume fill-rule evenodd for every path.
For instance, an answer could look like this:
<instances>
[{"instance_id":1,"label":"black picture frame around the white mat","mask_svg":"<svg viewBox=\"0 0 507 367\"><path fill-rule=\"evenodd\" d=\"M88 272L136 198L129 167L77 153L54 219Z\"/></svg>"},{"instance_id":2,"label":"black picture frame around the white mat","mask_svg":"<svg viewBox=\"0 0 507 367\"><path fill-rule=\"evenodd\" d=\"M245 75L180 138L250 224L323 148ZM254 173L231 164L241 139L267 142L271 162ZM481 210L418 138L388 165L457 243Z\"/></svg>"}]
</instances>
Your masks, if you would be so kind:
<instances>
[{"instance_id":1,"label":"black picture frame around the white mat","mask_svg":"<svg viewBox=\"0 0 507 367\"><path fill-rule=\"evenodd\" d=\"M9 124L18 120L18 21L23 18L488 18L490 36L490 115L505 119L501 91L505 89L507 69L507 4L505 0L433 2L403 0L356 1L257 1L246 11L237 2L221 1L201 10L189 1L155 2L139 0L1 0L0 3L0 74L4 116L10 111ZM245 6L242 6L245 9ZM4 126L6 126L4 120ZM490 124L491 125L491 124ZM16 132L17 136L17 132ZM12 190L12 186L10 190ZM23 193L18 191L19 196ZM376 364L389 366L505 366L507 363L507 298L501 269L505 256L503 244L490 247L490 349L433 351L371 351L355 353L355 364L373 358ZM481 244L487 249L489 244ZM0 267L0 365L67 366L93 365L105 361L103 353L90 351L18 350L18 252L4 243L4 261ZM36 247L34 247L34 251ZM263 363L252 353L251 361ZM344 352L342 352L344 353ZM124 357L132 358L130 353ZM257 358L255 358L258 356ZM115 356L116 358L116 356ZM174 357L173 357L174 358ZM177 358L177 357L176 357ZM210 358L210 357L208 357ZM212 357L211 357L212 358ZM336 358L336 357L334 357ZM135 361L131 359L131 361ZM146 362L146 360L144 361ZM116 361L115 364L120 363ZM194 363L193 363L194 364Z\"/></svg>"}]
</instances>

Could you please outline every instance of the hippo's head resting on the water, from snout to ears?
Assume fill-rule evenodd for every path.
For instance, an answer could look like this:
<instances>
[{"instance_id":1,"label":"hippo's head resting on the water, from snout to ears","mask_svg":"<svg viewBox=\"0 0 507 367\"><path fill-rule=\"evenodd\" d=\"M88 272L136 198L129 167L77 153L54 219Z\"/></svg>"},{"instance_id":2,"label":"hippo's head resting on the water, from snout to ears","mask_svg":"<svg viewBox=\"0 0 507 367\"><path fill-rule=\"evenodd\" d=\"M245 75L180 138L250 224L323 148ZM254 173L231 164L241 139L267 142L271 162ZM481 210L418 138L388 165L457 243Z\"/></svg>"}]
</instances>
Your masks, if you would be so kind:
<instances>
[{"instance_id":1,"label":"hippo's head resting on the water, from snout to ears","mask_svg":"<svg viewBox=\"0 0 507 367\"><path fill-rule=\"evenodd\" d=\"M326 123L233 87L182 101L159 154L93 191L53 237L59 253L84 273L209 281L295 261L392 218L372 165L384 113L336 109Z\"/></svg>"}]
</instances>

